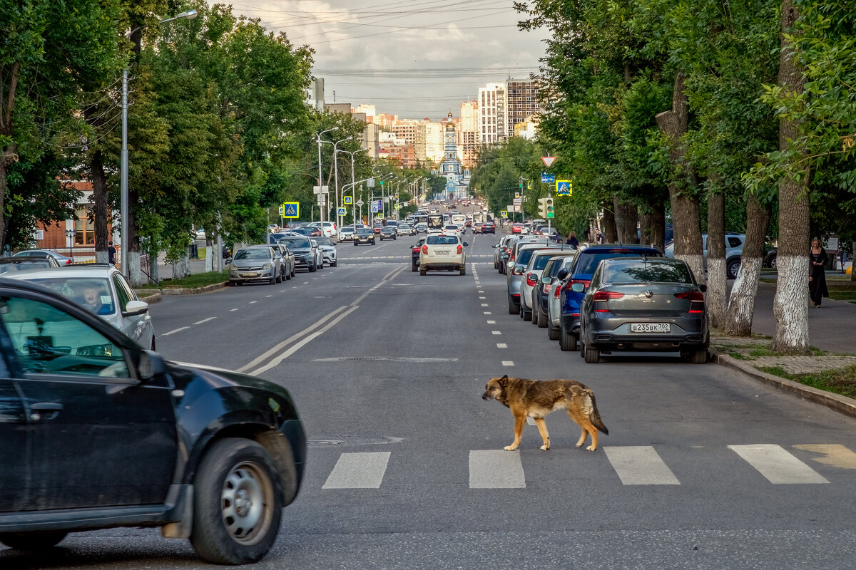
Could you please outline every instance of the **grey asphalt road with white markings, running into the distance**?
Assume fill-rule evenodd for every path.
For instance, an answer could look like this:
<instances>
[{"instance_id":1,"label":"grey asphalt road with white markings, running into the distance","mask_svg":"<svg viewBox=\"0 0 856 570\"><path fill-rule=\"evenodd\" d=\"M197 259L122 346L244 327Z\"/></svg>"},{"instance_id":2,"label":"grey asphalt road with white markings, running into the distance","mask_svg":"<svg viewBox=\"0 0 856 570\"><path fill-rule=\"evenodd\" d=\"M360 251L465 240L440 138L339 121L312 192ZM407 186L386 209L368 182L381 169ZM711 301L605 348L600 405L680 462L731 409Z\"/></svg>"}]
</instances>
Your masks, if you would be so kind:
<instances>
[{"instance_id":1,"label":"grey asphalt road with white markings, running into the distance","mask_svg":"<svg viewBox=\"0 0 856 570\"><path fill-rule=\"evenodd\" d=\"M339 247L339 267L152 306L169 359L285 385L311 445L278 568L845 568L856 558L856 421L676 356L596 365L508 314L493 236L467 275L410 271L412 238ZM608 436L547 418L552 449L491 376L591 386ZM86 532L0 567L201 568L150 529Z\"/></svg>"}]
</instances>

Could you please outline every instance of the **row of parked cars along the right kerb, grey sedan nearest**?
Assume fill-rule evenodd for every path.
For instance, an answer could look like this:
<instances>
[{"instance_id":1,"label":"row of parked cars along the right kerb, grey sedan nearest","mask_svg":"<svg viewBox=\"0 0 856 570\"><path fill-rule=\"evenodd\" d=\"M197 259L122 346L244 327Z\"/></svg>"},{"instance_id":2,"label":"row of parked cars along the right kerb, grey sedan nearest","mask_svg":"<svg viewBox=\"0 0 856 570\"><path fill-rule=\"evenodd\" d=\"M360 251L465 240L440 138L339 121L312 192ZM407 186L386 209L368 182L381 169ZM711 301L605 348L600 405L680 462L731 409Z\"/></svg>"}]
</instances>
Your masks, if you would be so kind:
<instances>
[{"instance_id":1,"label":"row of parked cars along the right kerb, grey sedan nearest","mask_svg":"<svg viewBox=\"0 0 856 570\"><path fill-rule=\"evenodd\" d=\"M508 313L546 328L561 350L580 350L586 362L614 351L707 361L706 288L685 261L645 245L576 249L525 235L503 236L494 248L494 267L507 276Z\"/></svg>"}]
</instances>

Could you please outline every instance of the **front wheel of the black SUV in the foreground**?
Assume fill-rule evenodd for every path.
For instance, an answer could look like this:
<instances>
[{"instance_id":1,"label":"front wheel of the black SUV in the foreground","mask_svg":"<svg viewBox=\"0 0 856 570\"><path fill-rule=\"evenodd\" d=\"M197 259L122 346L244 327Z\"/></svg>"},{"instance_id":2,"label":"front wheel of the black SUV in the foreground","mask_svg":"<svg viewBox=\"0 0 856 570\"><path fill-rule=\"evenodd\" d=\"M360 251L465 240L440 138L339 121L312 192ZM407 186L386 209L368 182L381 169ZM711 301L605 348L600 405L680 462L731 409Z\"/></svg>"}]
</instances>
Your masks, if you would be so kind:
<instances>
[{"instance_id":1,"label":"front wheel of the black SUV in the foreground","mask_svg":"<svg viewBox=\"0 0 856 570\"><path fill-rule=\"evenodd\" d=\"M261 560L282 517L282 490L270 454L251 439L221 439L197 473L190 535L196 554L215 564Z\"/></svg>"}]
</instances>

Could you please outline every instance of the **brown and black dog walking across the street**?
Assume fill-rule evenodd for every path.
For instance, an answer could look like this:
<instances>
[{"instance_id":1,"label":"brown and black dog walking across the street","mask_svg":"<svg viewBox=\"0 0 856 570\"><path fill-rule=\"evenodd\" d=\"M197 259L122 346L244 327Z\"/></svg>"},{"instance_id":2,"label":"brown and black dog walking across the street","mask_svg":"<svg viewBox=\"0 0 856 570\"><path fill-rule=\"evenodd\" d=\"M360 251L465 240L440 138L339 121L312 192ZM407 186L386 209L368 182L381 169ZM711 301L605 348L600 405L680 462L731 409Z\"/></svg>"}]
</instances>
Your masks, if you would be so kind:
<instances>
[{"instance_id":1,"label":"brown and black dog walking across the street","mask_svg":"<svg viewBox=\"0 0 856 570\"><path fill-rule=\"evenodd\" d=\"M514 442L505 446L506 451L514 451L520 445L526 416L535 420L538 432L544 439L541 449L549 450L550 434L547 433L544 416L561 408L565 408L568 417L583 429L577 447L582 447L586 437L591 434L591 445L586 450L597 450L597 430L609 435L609 430L597 413L594 392L576 380L528 380L508 378L506 374L502 378L488 380L482 399L496 399L514 414Z\"/></svg>"}]
</instances>

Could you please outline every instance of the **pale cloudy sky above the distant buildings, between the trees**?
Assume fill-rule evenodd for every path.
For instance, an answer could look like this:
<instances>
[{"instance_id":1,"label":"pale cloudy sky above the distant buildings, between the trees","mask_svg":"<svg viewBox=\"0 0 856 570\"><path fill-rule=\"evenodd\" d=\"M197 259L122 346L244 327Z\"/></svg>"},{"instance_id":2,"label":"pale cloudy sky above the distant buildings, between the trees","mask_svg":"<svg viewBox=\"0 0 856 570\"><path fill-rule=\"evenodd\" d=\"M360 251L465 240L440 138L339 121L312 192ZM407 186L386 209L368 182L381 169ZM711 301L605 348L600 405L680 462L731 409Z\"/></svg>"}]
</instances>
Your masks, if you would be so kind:
<instances>
[{"instance_id":1,"label":"pale cloudy sky above the distant buildings, between the trees","mask_svg":"<svg viewBox=\"0 0 856 570\"><path fill-rule=\"evenodd\" d=\"M544 32L520 32L511 0L236 0L295 45L315 50L327 103L439 120L479 86L538 70Z\"/></svg>"}]
</instances>

